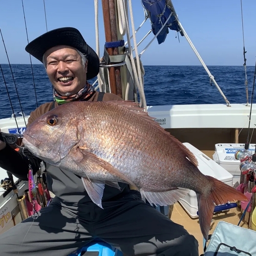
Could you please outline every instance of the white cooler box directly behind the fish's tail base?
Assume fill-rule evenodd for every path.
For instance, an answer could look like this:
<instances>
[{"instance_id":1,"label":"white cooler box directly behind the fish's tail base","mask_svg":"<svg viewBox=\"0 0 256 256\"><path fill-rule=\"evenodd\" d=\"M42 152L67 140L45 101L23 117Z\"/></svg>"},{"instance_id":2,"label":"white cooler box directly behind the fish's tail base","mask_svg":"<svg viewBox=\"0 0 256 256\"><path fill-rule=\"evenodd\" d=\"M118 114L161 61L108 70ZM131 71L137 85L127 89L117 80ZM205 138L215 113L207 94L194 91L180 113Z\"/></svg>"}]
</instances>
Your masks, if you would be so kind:
<instances>
[{"instance_id":1,"label":"white cooler box directly behind the fish's tail base","mask_svg":"<svg viewBox=\"0 0 256 256\"><path fill-rule=\"evenodd\" d=\"M208 175L214 177L229 186L232 186L233 176L227 172L223 167L221 167L214 160L203 154L200 150L198 150L193 145L185 142L183 143L197 158L198 160L198 168L200 172L204 175ZM189 193L182 199L180 199L180 204L188 213L191 218L198 218L198 203L197 196L195 191L190 190Z\"/></svg>"}]
</instances>

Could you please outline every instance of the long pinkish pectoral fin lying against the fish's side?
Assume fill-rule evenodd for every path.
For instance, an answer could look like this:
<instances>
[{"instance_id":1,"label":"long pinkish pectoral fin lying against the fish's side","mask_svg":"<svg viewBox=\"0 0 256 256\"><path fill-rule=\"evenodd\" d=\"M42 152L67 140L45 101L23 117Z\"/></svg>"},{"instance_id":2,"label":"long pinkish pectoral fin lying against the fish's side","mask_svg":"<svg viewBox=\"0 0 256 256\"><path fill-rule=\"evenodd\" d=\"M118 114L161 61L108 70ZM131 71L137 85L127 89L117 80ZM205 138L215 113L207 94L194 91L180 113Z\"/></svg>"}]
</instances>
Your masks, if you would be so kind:
<instances>
[{"instance_id":1,"label":"long pinkish pectoral fin lying against the fish's side","mask_svg":"<svg viewBox=\"0 0 256 256\"><path fill-rule=\"evenodd\" d=\"M101 166L103 169L105 169L107 172L111 173L112 175L115 175L115 176L121 178L124 182L137 187L128 177L126 177L124 174L119 172L119 170L116 169L112 164L106 162L104 159L101 159L101 158L97 157L96 155L94 155L93 153L90 153L86 150L80 149L80 151L83 154L83 159L79 163L80 167L82 167L82 165L84 165L84 167L86 167L88 165L88 161L91 161L95 164L98 164L99 166ZM84 168L84 169L86 169L86 168Z\"/></svg>"}]
</instances>

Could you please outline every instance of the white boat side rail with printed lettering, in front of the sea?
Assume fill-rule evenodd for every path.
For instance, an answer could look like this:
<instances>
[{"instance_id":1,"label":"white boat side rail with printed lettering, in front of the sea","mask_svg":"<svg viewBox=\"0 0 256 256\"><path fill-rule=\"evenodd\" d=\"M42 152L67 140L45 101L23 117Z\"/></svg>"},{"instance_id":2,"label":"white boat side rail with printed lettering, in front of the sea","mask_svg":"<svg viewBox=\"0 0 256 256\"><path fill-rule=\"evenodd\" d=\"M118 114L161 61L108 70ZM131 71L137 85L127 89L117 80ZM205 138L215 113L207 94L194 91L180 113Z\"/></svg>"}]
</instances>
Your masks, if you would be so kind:
<instances>
[{"instance_id":1,"label":"white boat side rail with printed lettering, in front of the sea","mask_svg":"<svg viewBox=\"0 0 256 256\"><path fill-rule=\"evenodd\" d=\"M248 128L250 107L245 104L194 104L148 106L148 114L164 129L173 128ZM250 127L256 121L252 108Z\"/></svg>"}]
</instances>

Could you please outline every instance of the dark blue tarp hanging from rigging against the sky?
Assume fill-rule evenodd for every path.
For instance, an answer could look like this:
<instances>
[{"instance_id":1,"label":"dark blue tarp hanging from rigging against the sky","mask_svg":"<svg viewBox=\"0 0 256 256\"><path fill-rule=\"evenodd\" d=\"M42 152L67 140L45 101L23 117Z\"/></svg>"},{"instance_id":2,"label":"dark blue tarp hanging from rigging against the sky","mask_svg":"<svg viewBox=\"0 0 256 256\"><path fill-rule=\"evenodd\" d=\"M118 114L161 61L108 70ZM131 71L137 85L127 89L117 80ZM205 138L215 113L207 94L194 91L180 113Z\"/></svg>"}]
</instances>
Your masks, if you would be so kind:
<instances>
[{"instance_id":1,"label":"dark blue tarp hanging from rigging against the sky","mask_svg":"<svg viewBox=\"0 0 256 256\"><path fill-rule=\"evenodd\" d=\"M162 28L162 25L166 22L167 18L169 17L172 10L170 9L169 5L166 5L166 0L142 0L142 4L144 8L147 10L149 18L151 20L152 31L154 35ZM169 30L175 30L180 32L183 36L182 32L180 31L178 22L176 18L172 15L168 22L166 23L165 27L157 36L158 44L162 44L164 42Z\"/></svg>"}]
</instances>

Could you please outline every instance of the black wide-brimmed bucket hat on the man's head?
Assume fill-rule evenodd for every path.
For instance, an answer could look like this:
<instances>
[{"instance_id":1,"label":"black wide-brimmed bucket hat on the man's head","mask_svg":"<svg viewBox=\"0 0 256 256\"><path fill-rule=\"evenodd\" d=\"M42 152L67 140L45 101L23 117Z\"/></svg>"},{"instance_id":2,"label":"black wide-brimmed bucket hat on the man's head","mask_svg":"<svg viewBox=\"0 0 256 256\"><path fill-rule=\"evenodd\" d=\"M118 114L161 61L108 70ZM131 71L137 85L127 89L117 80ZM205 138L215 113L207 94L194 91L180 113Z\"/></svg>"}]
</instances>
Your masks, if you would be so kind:
<instances>
[{"instance_id":1,"label":"black wide-brimmed bucket hat on the man's head","mask_svg":"<svg viewBox=\"0 0 256 256\"><path fill-rule=\"evenodd\" d=\"M57 45L71 46L83 53L88 59L87 79L99 73L99 58L96 52L86 43L81 33L75 28L58 28L51 30L31 41L25 50L42 62L42 56Z\"/></svg>"}]
</instances>

